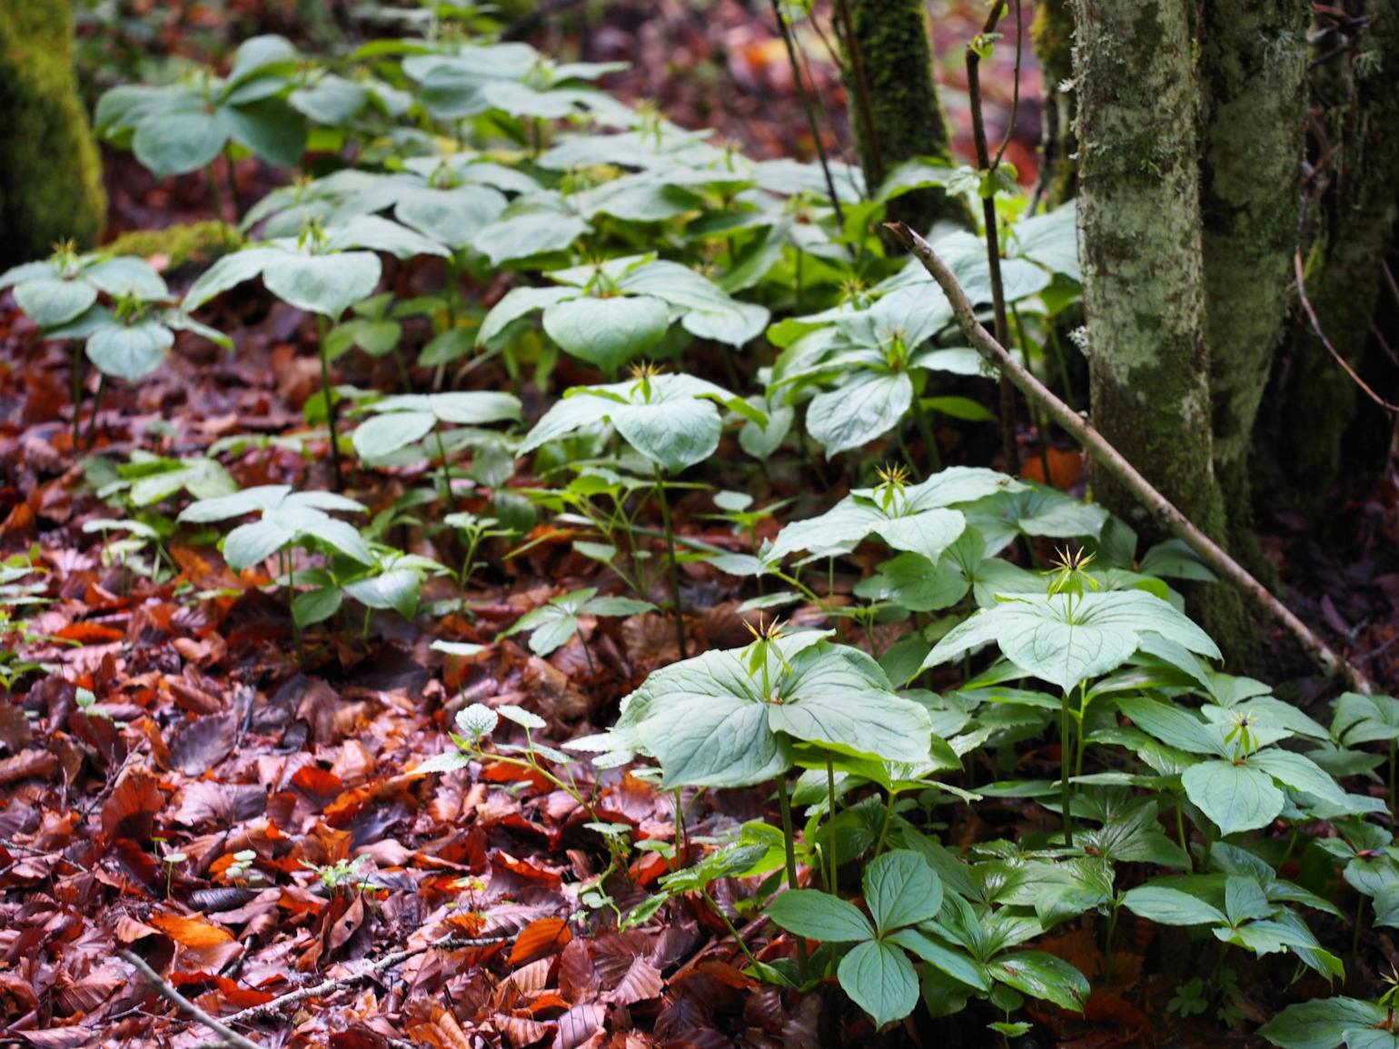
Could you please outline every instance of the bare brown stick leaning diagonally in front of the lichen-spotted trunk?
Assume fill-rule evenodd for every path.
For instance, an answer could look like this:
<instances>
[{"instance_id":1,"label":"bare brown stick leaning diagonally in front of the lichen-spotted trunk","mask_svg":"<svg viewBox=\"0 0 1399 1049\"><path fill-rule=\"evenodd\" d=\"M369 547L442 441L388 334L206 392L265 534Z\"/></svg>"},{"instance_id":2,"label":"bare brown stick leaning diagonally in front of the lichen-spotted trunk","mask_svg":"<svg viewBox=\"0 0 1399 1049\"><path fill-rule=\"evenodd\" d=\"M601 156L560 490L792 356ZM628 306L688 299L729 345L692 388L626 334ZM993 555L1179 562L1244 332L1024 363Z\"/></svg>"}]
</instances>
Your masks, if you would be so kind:
<instances>
[{"instance_id":1,"label":"bare brown stick leaning diagonally in front of the lichen-spotted trunk","mask_svg":"<svg viewBox=\"0 0 1399 1049\"><path fill-rule=\"evenodd\" d=\"M1357 692L1368 694L1372 691L1370 680L1357 666L1336 655L1325 641L1312 634L1311 628L1298 620L1286 604L1273 597L1262 583L1226 554L1219 544L1195 527L1191 519L1181 513L1170 499L1161 495L1150 481L1137 473L1137 469L1118 449L1108 443L1107 438L1094 429L1084 417L1079 415L1051 393L1044 383L1006 351L1006 347L996 341L990 331L977 322L977 313L972 311L967 292L961 290L953 271L937 257L937 253L928 241L902 222L888 222L887 225L894 236L918 257L923 269L937 281L937 285L947 295L947 301L953 306L953 313L963 334L967 336L967 340L975 347L977 352L996 365L1000 373L1007 376L1027 399L1042 404L1053 421L1073 436L1090 456L1102 464L1122 487L1132 492L1137 502L1146 506L1172 536L1182 540L1206 565L1234 583L1245 597L1291 634L1328 674L1339 674Z\"/></svg>"}]
</instances>

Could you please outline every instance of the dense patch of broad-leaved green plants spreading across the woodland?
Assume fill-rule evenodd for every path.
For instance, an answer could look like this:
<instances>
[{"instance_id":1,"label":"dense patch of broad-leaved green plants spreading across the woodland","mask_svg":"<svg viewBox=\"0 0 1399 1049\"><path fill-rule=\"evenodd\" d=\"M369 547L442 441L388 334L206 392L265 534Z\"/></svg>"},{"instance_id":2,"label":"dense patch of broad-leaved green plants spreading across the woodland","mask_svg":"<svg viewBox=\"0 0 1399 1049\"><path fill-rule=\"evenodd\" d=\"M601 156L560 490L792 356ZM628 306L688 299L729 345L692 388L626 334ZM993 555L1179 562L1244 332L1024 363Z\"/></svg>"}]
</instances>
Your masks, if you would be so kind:
<instances>
[{"instance_id":1,"label":"dense patch of broad-leaved green plants spreading across the woodland","mask_svg":"<svg viewBox=\"0 0 1399 1049\"><path fill-rule=\"evenodd\" d=\"M126 536L115 555L134 564L150 551L145 571L159 579L176 529L210 540L227 530L220 541L235 571L277 561L271 582L287 593L298 629L347 601L411 618L424 582L448 568L385 543L392 527L455 531L464 589L483 544L522 534L544 511L634 594L568 590L501 635L527 632L530 649L548 656L583 632L586 617L655 608L644 600L656 578L641 515L659 504L681 657L623 701L609 732L568 748L596 754L600 769L653 761L672 790L775 783L782 828L755 821L708 855L693 849L693 866L623 915L604 883L621 870L628 834L596 818L574 778L578 759L536 738L546 727L537 715L469 705L455 748L417 771L502 762L572 794L595 817L589 827L610 859L578 887L579 899L609 908L618 923L645 920L681 894L698 894L729 923L712 883L762 878L754 906L800 943L795 964L750 957L751 972L800 987L835 975L876 1024L908 1015L919 1000L933 1015L988 1001L1006 1017L993 1024L1003 1035L1017 1029L1009 1017L1025 997L1081 1010L1084 976L1034 944L1063 922L1097 915L1111 958L1123 906L1220 950L1286 954L1340 976L1336 952L1302 918L1302 909L1335 913L1335 890L1277 874L1286 856L1256 834L1277 821L1294 839L1312 821L1335 825L1339 836L1305 843L1308 863L1319 856L1321 869L1339 870L1372 901L1377 922L1399 922L1399 852L1372 820L1384 806L1337 783L1375 776L1384 757L1363 748L1386 744L1392 807L1399 704L1346 695L1330 727L1321 726L1266 685L1210 663L1217 648L1172 589L1212 579L1188 550L1163 543L1139 552L1132 529L1100 508L992 470L940 466L937 424L993 418L967 393L989 390L978 383L995 375L964 345L923 270L887 253L877 234L886 207L929 186L993 194L1014 341L1030 366L1058 364L1066 387L1056 330L1079 299L1072 207L1028 215L1013 187L923 161L897 168L883 186L866 186L841 164L821 172L755 162L599 90L613 66L555 63L523 43L445 28L460 13L434 10L424 35L332 60L255 38L225 76L196 71L104 97L101 133L157 175L206 168L220 155L295 166L309 141L354 161L257 201L242 220L245 246L200 274L178 306L143 263L71 250L11 270L0 287L14 285L45 337L85 340L95 366L130 380L159 365L175 330L220 338L189 313L260 280L316 317L323 389L306 421L329 428L337 483L340 455L350 452L367 471L427 470L438 481L357 527L334 516L368 512L346 495L239 491L218 456L242 455L250 438L220 442L201 459L98 459L92 483L126 513L95 526ZM936 246L971 301L989 305L983 241L944 234ZM397 298L385 290L385 256L390 266L441 269L442 290ZM463 277L485 285L502 274L509 287L488 306L463 298ZM410 330L424 322L427 338L410 359ZM764 337L775 351L767 357L755 347ZM733 365L729 387L687 371L695 345ZM402 387L333 386L330 364L350 352L393 355ZM527 431L515 396L446 387L449 369L463 385L498 359L522 386L544 390L561 355L597 373ZM414 385L410 365L432 369L431 392ZM631 378L618 379L628 365ZM344 441L341 406L354 422ZM713 460L726 431L758 460L746 469L807 456L814 443L828 460L848 456L839 467L856 480L824 512L761 541L757 524L785 505L755 508L747 495L720 492L718 516L751 550L680 540L667 497L705 488L679 476ZM909 460L909 436L923 448L919 483L909 483L912 462L874 471L851 455L897 448ZM305 455L319 438L269 441ZM544 487L512 490L519 456L530 456ZM462 481L484 506L457 506ZM176 499L189 501L162 509ZM450 512L420 513L438 501ZM1065 547L1051 571L1006 557L1016 547L1035 557L1046 541ZM863 624L869 650L849 632L837 639L834 628L767 625L747 648L687 659L683 561L755 580L760 593L744 611L802 601L832 621ZM834 585L838 564L860 575L849 594ZM774 580L781 589L767 586ZM898 634L883 650L876 624ZM958 660L958 687L928 687ZM523 743L491 740L499 718ZM1059 779L1014 779L1013 747L1055 734ZM988 769L990 779L977 792L947 783L961 768ZM1037 803L1062 827L960 853L936 839L940 807L983 797ZM799 828L793 810L803 807ZM824 891L803 887L802 866ZM858 877L842 881L842 873ZM775 894L783 874L786 891ZM863 908L839 895L855 883ZM820 943L810 957L807 939ZM1284 1046L1368 1049L1389 1045L1375 1039L1391 1027L1385 1000L1332 999L1287 1010L1263 1034Z\"/></svg>"}]
</instances>

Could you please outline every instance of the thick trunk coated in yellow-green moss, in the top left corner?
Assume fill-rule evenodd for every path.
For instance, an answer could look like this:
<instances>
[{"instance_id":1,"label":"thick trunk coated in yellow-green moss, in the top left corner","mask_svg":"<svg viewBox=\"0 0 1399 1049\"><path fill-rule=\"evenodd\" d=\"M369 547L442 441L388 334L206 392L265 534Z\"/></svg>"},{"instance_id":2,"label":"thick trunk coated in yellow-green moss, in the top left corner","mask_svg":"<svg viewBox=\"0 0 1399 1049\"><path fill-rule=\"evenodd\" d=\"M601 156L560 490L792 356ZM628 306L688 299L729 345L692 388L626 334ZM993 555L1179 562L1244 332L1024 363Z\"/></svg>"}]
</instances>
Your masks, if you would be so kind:
<instances>
[{"instance_id":1,"label":"thick trunk coated in yellow-green moss, in the top left corner","mask_svg":"<svg viewBox=\"0 0 1399 1049\"><path fill-rule=\"evenodd\" d=\"M0 0L0 269L97 241L102 165L73 73L67 0Z\"/></svg>"}]
</instances>

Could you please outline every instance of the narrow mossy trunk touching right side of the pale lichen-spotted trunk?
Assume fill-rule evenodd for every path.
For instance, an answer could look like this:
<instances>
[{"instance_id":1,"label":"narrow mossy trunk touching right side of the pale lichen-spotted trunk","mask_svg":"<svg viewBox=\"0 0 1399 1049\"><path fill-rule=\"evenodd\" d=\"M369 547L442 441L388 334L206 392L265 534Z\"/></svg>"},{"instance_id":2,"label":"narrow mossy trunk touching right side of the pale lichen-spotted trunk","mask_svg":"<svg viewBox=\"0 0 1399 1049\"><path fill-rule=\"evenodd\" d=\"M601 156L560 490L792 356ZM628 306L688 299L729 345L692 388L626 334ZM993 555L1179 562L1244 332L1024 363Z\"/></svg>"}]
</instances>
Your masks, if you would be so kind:
<instances>
[{"instance_id":1,"label":"narrow mossy trunk touching right side of the pale lichen-spotted trunk","mask_svg":"<svg viewBox=\"0 0 1399 1049\"><path fill-rule=\"evenodd\" d=\"M1256 575L1249 446L1283 338L1301 214L1309 0L1200 7L1200 213L1214 474L1228 544Z\"/></svg>"}]
</instances>

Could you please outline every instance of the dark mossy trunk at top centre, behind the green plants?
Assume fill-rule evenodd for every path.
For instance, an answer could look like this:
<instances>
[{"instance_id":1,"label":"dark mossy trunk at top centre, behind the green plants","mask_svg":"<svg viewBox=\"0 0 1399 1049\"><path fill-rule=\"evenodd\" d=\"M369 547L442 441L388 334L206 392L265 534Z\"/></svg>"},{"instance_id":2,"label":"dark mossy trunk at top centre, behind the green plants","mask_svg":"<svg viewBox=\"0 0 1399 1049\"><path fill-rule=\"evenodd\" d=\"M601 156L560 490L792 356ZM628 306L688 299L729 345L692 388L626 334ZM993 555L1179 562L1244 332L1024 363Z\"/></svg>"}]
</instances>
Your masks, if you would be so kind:
<instances>
[{"instance_id":1,"label":"dark mossy trunk at top centre, behind the green plants","mask_svg":"<svg viewBox=\"0 0 1399 1049\"><path fill-rule=\"evenodd\" d=\"M835 0L835 7L851 127L870 190L914 157L950 164L922 0ZM890 215L923 232L940 220L972 224L967 206L940 189L898 197Z\"/></svg>"}]
</instances>

